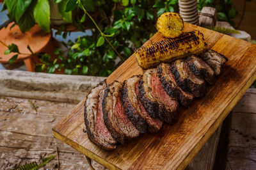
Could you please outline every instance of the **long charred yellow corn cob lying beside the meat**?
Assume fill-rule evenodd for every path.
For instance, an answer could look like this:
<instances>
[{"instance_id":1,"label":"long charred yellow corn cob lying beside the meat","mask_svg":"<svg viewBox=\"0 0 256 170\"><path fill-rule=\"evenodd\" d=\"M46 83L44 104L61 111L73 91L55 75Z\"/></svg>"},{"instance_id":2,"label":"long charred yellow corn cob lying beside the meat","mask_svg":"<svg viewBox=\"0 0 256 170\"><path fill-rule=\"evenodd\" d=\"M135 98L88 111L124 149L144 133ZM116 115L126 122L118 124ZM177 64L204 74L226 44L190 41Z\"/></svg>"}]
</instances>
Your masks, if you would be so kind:
<instances>
[{"instance_id":1,"label":"long charred yellow corn cob lying beside the meat","mask_svg":"<svg viewBox=\"0 0 256 170\"><path fill-rule=\"evenodd\" d=\"M159 63L169 63L175 59L198 55L207 49L204 35L200 31L190 31L176 38L168 38L140 47L135 52L138 64L143 69L152 68Z\"/></svg>"}]
</instances>

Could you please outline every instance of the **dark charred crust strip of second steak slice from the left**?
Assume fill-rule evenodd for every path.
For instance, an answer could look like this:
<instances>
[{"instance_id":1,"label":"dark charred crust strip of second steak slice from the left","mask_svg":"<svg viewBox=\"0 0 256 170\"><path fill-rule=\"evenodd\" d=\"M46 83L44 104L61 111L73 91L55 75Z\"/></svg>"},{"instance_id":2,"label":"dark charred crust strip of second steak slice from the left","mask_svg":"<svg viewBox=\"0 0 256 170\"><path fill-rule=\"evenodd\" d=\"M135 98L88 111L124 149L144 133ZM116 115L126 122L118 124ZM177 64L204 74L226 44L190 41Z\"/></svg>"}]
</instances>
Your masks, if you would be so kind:
<instances>
[{"instance_id":1,"label":"dark charred crust strip of second steak slice from the left","mask_svg":"<svg viewBox=\"0 0 256 170\"><path fill-rule=\"evenodd\" d=\"M109 84L109 86L111 86L113 83ZM106 99L108 97L109 86L106 86L106 88L104 89L104 97L102 100L102 112L103 112L104 123L105 123L106 127L108 128L109 132L111 133L112 137L116 141L118 141L118 143L125 144L125 143L127 143L127 138L125 137L125 135L119 134L115 130L115 128L112 127L111 122L109 121L109 118L108 118L108 111L106 110L106 102L107 102Z\"/></svg>"}]
</instances>

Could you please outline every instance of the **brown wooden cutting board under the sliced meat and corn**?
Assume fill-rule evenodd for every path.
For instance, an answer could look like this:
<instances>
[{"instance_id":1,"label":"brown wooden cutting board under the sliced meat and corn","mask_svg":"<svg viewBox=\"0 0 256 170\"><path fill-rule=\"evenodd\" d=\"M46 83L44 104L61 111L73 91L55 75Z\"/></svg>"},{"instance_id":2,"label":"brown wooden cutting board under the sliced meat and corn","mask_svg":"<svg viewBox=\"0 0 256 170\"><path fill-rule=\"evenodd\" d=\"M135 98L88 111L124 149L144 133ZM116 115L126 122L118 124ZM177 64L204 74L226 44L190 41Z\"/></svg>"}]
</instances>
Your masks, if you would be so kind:
<instances>
[{"instance_id":1,"label":"brown wooden cutting board under the sliced meat and corn","mask_svg":"<svg viewBox=\"0 0 256 170\"><path fill-rule=\"evenodd\" d=\"M227 56L229 61L214 86L207 86L204 98L196 98L189 109L180 108L175 125L165 124L161 132L142 134L116 150L100 150L83 132L84 98L52 128L55 137L109 169L184 169L256 79L256 45L185 25L185 31L194 29L202 31L209 48ZM145 45L162 39L156 33ZM124 81L140 73L142 70L132 54L107 81Z\"/></svg>"}]
</instances>

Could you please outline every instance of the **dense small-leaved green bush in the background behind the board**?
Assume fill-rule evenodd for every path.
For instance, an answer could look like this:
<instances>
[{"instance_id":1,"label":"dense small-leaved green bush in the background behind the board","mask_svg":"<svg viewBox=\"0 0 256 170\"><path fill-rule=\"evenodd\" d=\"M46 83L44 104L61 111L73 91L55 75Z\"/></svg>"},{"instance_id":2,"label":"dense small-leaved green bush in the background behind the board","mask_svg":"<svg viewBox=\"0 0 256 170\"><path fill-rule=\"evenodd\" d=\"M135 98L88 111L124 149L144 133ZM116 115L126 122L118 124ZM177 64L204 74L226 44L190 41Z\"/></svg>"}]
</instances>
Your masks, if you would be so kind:
<instances>
[{"instance_id":1,"label":"dense small-leaved green bush in the background behind the board","mask_svg":"<svg viewBox=\"0 0 256 170\"><path fill-rule=\"evenodd\" d=\"M57 58L36 54L42 61L36 65L37 72L63 70L67 74L108 76L156 33L159 15L179 12L178 0L55 0L55 3L61 4L60 12L72 12L72 23L81 31L90 29L92 35L63 43L67 50L56 49ZM223 5L221 8L219 3ZM232 1L198 0L198 10L203 6L216 7L220 20L231 22L236 16ZM65 37L67 33L63 30L65 27L61 26L58 34Z\"/></svg>"}]
</instances>

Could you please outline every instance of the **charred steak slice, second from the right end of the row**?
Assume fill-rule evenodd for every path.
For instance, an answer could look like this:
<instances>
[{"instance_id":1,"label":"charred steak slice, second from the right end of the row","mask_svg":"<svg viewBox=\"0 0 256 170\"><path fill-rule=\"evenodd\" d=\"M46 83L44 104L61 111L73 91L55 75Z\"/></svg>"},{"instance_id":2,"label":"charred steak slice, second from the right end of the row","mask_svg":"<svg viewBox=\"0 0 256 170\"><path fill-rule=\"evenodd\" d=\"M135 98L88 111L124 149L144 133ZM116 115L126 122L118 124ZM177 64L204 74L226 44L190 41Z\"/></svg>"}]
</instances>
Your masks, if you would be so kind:
<instances>
[{"instance_id":1,"label":"charred steak slice, second from the right end of the row","mask_svg":"<svg viewBox=\"0 0 256 170\"><path fill-rule=\"evenodd\" d=\"M189 56L186 59L187 65L196 76L201 79L205 79L209 84L214 84L216 77L211 66L207 65L201 58L198 58L194 55Z\"/></svg>"}]
</instances>

